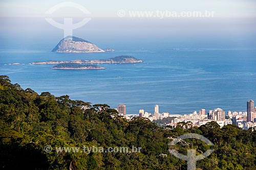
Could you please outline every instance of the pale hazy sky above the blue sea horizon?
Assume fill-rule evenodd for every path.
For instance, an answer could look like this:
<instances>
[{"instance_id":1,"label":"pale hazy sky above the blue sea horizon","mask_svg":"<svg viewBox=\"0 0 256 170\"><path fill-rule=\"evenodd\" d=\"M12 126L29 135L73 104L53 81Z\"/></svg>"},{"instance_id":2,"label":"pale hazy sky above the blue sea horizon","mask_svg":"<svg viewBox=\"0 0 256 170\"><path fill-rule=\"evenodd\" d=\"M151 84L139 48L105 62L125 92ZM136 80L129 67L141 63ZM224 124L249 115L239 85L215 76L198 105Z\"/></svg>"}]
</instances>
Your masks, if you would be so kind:
<instances>
[{"instance_id":1,"label":"pale hazy sky above the blue sea horizon","mask_svg":"<svg viewBox=\"0 0 256 170\"><path fill-rule=\"evenodd\" d=\"M80 4L90 11L90 14L84 15L75 8L63 8L56 10L52 15L45 14L51 7L62 2ZM118 10L124 10L126 13L207 10L214 12L214 17L131 18L126 15L118 17ZM123 44L123 48L131 42L157 45L163 44L163 41L166 41L166 45L175 47L222 47L228 44L232 48L237 48L256 45L255 0L0 0L0 38L5 42L0 45L2 48L8 48L19 42L23 47L31 47L35 39L41 39L50 42L48 45L51 48L63 38L63 30L50 25L45 20L46 17L52 17L62 23L65 17L84 16L90 17L91 20L74 30L73 35L98 44L115 40L118 44ZM81 21L81 18L76 19L76 22Z\"/></svg>"}]
</instances>

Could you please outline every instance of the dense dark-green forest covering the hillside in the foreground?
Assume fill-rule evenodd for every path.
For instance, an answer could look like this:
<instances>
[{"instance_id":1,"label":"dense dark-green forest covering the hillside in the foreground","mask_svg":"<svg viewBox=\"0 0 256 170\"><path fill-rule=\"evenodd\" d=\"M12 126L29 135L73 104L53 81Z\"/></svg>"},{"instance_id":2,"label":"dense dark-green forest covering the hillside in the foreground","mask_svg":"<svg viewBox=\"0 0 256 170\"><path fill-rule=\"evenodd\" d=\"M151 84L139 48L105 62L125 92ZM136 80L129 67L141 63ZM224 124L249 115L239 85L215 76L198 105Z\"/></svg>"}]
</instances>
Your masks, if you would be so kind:
<instances>
[{"instance_id":1,"label":"dense dark-green forest covering the hillside in the foreground","mask_svg":"<svg viewBox=\"0 0 256 170\"><path fill-rule=\"evenodd\" d=\"M106 104L73 101L68 95L55 97L23 90L0 77L0 168L1 169L186 169L187 163L169 153L168 143L187 133L205 136L215 145L185 139L174 148L202 154L198 169L256 169L256 131L215 122L199 128L158 127L146 118L130 122ZM52 152L44 147L51 145ZM141 152L61 152L56 147L141 147Z\"/></svg>"}]
</instances>

